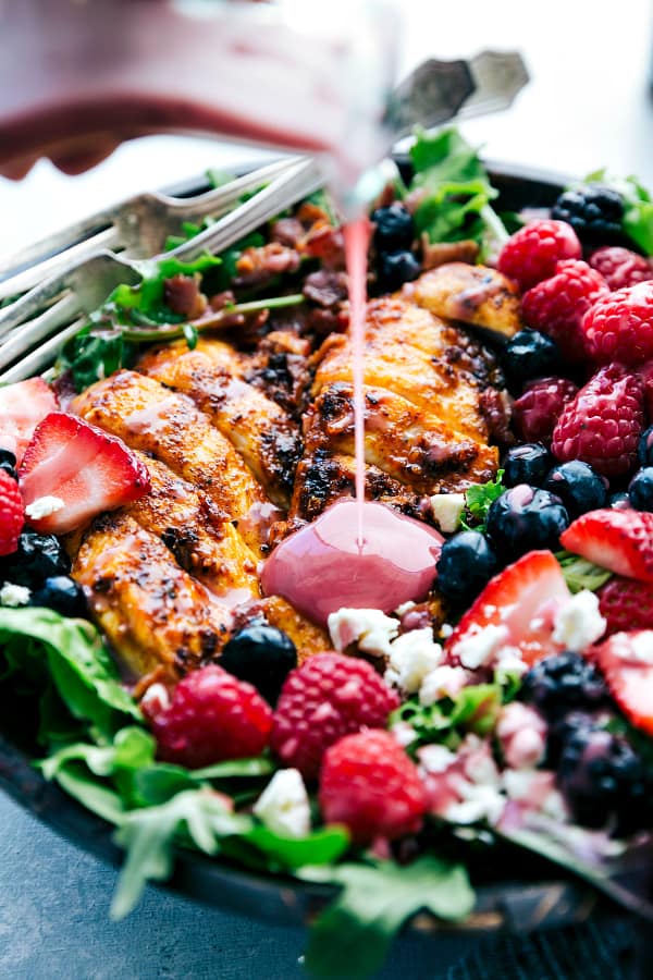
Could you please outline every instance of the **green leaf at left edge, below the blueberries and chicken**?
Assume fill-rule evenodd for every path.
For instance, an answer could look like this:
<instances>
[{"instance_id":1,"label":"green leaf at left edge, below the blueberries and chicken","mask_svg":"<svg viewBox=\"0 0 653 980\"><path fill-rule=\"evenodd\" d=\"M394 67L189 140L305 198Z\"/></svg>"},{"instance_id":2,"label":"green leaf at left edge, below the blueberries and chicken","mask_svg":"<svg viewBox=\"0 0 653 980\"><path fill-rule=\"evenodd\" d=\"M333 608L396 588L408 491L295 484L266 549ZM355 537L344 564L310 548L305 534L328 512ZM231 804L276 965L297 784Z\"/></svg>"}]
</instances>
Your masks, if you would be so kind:
<instances>
[{"instance_id":1,"label":"green leaf at left edge, below the blueberries and chicken","mask_svg":"<svg viewBox=\"0 0 653 980\"><path fill-rule=\"evenodd\" d=\"M141 720L100 634L86 620L51 609L0 609L0 650L11 672L34 672L35 659L46 664L73 718L103 735L114 731L120 715Z\"/></svg>"}]
</instances>

